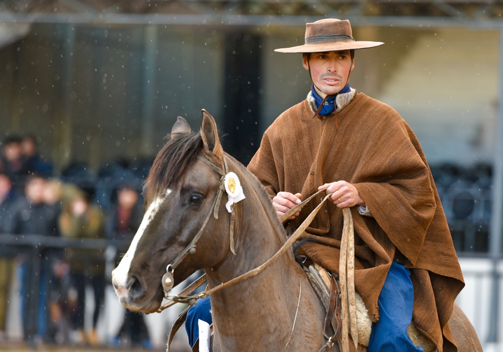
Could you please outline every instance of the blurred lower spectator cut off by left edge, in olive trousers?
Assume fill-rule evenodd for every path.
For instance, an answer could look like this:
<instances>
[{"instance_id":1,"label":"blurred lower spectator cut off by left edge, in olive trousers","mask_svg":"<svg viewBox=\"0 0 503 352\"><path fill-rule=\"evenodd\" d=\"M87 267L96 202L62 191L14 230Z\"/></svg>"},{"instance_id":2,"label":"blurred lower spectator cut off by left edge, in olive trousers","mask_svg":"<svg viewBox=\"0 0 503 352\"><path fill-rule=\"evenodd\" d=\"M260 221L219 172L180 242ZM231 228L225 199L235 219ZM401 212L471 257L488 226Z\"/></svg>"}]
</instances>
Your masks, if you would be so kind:
<instances>
[{"instance_id":1,"label":"blurred lower spectator cut off by left edge, in olive trousers","mask_svg":"<svg viewBox=\"0 0 503 352\"><path fill-rule=\"evenodd\" d=\"M12 233L14 204L16 192L12 187L9 175L0 172L0 233ZM0 258L0 331L5 332L7 305L12 276L14 274L14 260L9 257Z\"/></svg>"}]
</instances>

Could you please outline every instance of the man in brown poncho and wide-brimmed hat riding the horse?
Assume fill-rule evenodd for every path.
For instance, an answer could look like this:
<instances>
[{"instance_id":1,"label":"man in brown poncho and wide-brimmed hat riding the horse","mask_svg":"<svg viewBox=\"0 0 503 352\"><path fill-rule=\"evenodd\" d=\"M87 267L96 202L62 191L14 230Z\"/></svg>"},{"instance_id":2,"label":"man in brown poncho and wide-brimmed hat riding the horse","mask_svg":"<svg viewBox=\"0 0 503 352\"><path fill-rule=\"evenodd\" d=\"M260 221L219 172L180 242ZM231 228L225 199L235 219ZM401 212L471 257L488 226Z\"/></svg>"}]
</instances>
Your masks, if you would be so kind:
<instances>
[{"instance_id":1,"label":"man in brown poncho and wide-brimmed hat riding the horse","mask_svg":"<svg viewBox=\"0 0 503 352\"><path fill-rule=\"evenodd\" d=\"M350 87L356 49L349 21L306 25L305 44L277 49L302 53L313 81L307 98L264 133L248 169L268 191L278 216L326 189L325 204L305 231L301 250L338 274L343 214L355 229L355 286L372 319L368 349L422 351L407 327L413 321L437 346L456 351L448 324L464 286L447 221L417 138L391 107ZM315 205L290 218L297 228ZM195 343L198 319L211 322L209 299L191 308L186 327Z\"/></svg>"}]
</instances>

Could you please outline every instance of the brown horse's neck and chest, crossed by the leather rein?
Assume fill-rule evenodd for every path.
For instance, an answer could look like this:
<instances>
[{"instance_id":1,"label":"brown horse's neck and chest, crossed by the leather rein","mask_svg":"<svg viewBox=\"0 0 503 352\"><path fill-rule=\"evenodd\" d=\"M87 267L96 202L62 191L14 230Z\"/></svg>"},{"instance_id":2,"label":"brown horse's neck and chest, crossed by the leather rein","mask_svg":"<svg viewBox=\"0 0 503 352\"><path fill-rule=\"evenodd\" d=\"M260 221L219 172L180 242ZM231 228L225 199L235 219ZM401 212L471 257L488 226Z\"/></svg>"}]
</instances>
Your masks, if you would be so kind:
<instances>
[{"instance_id":1,"label":"brown horse's neck and chest, crossed by the leather rein","mask_svg":"<svg viewBox=\"0 0 503 352\"><path fill-rule=\"evenodd\" d=\"M262 204L263 197L253 190L246 192L247 201L242 202L241 221L235 233L236 255L229 250L219 266L206 271L211 287L257 268L285 242L284 233L278 233L278 224L274 224L276 219L271 219L271 213ZM303 290L309 285L301 271L293 254L287 252L259 275L212 294L214 326L225 331L225 336L220 337L226 341L221 342L232 345L231 350L241 350L236 344L249 343L253 338L244 337L250 332L243 321L258 323L253 328L255 334L275 331L277 337L289 336L289 321L293 324L298 306L299 284L302 282ZM278 319L270 319L271 316Z\"/></svg>"}]
</instances>

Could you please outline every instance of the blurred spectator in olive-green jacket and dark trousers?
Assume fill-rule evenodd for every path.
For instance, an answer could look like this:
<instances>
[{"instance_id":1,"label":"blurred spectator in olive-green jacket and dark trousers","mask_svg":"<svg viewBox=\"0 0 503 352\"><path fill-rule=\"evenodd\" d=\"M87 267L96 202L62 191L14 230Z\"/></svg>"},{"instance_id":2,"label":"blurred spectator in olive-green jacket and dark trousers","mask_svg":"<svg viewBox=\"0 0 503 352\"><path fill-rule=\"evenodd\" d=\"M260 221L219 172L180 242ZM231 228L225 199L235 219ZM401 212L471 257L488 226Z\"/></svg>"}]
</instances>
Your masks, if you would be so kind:
<instances>
[{"instance_id":1,"label":"blurred spectator in olive-green jacket and dark trousers","mask_svg":"<svg viewBox=\"0 0 503 352\"><path fill-rule=\"evenodd\" d=\"M102 238L104 216L99 207L90 203L89 195L81 192L63 209L59 229L64 237ZM97 344L96 323L105 295L104 253L102 250L67 249L65 260L70 265L72 285L77 291L77 306L72 317L73 328L78 334L76 339ZM87 283L92 285L95 296L93 330L90 334L85 334L83 330Z\"/></svg>"}]
</instances>

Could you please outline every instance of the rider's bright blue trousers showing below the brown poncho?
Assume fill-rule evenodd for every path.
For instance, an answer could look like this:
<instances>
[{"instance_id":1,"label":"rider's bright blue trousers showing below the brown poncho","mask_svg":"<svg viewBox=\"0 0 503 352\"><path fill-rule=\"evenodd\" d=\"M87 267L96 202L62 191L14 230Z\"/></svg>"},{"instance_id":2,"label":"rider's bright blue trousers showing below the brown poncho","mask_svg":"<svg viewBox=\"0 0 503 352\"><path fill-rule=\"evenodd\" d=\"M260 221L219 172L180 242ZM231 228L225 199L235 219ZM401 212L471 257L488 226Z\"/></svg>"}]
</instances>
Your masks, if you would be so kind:
<instances>
[{"instance_id":1,"label":"rider's bright blue trousers showing below the brown poncho","mask_svg":"<svg viewBox=\"0 0 503 352\"><path fill-rule=\"evenodd\" d=\"M413 303L410 270L393 261L377 301L380 319L372 324L369 352L424 352L423 348L414 346L407 332ZM210 309L209 297L200 299L189 309L185 328L191 346L199 337L198 320L212 323Z\"/></svg>"}]
</instances>

